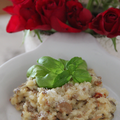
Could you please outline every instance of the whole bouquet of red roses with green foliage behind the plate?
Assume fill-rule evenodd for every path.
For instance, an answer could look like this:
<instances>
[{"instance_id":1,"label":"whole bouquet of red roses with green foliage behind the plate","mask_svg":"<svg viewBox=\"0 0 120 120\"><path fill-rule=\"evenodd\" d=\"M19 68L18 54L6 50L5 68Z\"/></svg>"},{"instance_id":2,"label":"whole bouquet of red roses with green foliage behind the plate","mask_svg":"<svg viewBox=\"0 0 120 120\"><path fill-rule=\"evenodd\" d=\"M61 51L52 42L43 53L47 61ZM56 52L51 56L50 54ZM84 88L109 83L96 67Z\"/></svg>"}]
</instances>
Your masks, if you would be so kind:
<instances>
[{"instance_id":1,"label":"whole bouquet of red roses with green foliage behind the plate","mask_svg":"<svg viewBox=\"0 0 120 120\"><path fill-rule=\"evenodd\" d=\"M78 33L111 38L116 50L120 35L119 0L11 0L13 6L4 8L11 14L7 32L34 31L41 33ZM117 50L116 50L117 51Z\"/></svg>"}]
</instances>

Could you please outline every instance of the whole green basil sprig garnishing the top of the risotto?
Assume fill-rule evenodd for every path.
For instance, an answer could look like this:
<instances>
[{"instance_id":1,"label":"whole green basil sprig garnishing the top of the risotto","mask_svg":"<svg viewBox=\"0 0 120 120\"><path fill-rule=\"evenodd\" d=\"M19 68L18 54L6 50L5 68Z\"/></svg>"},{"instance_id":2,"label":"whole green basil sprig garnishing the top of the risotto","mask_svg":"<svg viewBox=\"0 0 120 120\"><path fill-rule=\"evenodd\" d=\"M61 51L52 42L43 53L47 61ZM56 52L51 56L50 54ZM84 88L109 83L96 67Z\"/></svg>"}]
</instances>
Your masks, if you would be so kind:
<instances>
[{"instance_id":1,"label":"whole green basil sprig garnishing the top of the risotto","mask_svg":"<svg viewBox=\"0 0 120 120\"><path fill-rule=\"evenodd\" d=\"M91 82L91 75L87 71L87 63L81 57L73 57L71 60L54 59L43 56L37 60L39 65L33 65L27 71L27 77L36 79L39 87L56 88L68 83Z\"/></svg>"}]
</instances>

